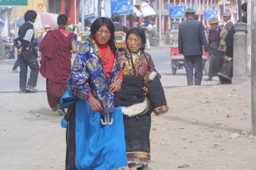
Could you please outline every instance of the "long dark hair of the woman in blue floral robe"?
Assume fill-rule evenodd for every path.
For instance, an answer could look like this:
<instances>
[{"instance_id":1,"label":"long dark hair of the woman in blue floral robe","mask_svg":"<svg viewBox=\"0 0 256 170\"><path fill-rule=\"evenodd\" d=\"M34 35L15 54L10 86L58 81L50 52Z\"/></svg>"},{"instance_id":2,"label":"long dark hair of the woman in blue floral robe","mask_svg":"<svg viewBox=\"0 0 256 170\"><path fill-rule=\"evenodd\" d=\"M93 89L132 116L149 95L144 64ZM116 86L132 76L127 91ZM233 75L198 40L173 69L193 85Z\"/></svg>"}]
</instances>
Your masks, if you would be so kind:
<instances>
[{"instance_id":1,"label":"long dark hair of the woman in blue floral robe","mask_svg":"<svg viewBox=\"0 0 256 170\"><path fill-rule=\"evenodd\" d=\"M100 27L102 27L103 25L106 25L106 27L108 28L108 30L110 31L111 34L111 38L109 39L108 43L109 46L112 50L112 52L116 52L117 48L115 45L115 27L113 25L113 22L109 19L109 18L105 18L105 17L100 17L97 18L91 25L90 31L91 31L91 35L92 37L95 36L96 32L100 29Z\"/></svg>"}]
</instances>

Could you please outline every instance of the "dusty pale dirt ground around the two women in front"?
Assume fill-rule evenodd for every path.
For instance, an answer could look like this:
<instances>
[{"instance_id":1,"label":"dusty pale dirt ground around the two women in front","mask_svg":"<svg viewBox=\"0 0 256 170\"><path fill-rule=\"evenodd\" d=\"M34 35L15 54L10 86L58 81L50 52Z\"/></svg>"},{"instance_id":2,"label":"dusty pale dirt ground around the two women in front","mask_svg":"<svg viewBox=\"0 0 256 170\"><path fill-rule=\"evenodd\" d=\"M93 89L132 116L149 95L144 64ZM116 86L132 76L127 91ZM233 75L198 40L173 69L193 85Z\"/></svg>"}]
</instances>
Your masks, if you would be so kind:
<instances>
[{"instance_id":1,"label":"dusty pale dirt ground around the two women in front","mask_svg":"<svg viewBox=\"0 0 256 170\"><path fill-rule=\"evenodd\" d=\"M256 169L250 80L164 90L170 111L152 115L150 167ZM65 169L65 129L46 93L0 93L0 99L0 169Z\"/></svg>"}]
</instances>

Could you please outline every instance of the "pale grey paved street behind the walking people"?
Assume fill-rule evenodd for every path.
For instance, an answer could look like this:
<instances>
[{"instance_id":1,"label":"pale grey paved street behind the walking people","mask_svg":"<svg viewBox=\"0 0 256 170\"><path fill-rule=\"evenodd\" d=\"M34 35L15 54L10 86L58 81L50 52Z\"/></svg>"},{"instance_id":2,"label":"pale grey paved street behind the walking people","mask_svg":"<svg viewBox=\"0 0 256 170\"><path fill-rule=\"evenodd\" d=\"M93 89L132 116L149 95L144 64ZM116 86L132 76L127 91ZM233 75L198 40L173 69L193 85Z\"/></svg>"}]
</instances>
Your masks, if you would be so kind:
<instances>
[{"instance_id":1,"label":"pale grey paved street behind the walking people","mask_svg":"<svg viewBox=\"0 0 256 170\"><path fill-rule=\"evenodd\" d=\"M168 48L168 46L163 46L161 48L153 47L147 50L147 52L152 55L156 69L162 75L161 81L163 83L163 87L186 86L186 74L184 69L179 69L175 76L172 75L169 49L170 48ZM13 62L13 60L0 62L0 92L19 91L19 73L13 73L11 71ZM207 76L204 76L204 78L207 78ZM217 83L218 78L215 77L214 81L203 81L202 85L216 85ZM37 89L45 91L45 79L40 74L38 77Z\"/></svg>"}]
</instances>

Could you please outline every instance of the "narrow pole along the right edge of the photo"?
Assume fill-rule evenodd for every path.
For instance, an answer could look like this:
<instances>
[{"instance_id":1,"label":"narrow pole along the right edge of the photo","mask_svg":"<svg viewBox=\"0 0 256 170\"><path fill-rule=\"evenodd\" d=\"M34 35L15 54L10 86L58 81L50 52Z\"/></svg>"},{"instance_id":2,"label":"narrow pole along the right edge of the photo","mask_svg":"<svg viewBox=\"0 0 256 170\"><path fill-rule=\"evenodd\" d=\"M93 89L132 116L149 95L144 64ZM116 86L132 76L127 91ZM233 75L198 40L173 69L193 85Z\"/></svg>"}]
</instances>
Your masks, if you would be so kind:
<instances>
[{"instance_id":1,"label":"narrow pole along the right edge of the photo","mask_svg":"<svg viewBox=\"0 0 256 170\"><path fill-rule=\"evenodd\" d=\"M256 135L256 1L252 1L252 134Z\"/></svg>"}]
</instances>

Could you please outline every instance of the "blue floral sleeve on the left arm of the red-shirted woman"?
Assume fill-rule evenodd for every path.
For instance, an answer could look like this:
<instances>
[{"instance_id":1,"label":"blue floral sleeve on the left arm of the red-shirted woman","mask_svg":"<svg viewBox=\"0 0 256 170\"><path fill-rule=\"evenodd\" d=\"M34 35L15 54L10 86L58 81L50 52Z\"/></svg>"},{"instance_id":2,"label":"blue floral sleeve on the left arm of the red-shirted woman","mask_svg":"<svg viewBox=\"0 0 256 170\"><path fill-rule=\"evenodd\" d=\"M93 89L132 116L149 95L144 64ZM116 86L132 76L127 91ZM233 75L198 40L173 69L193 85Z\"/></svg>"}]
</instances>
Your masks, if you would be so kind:
<instances>
[{"instance_id":1,"label":"blue floral sleeve on the left arm of the red-shirted woman","mask_svg":"<svg viewBox=\"0 0 256 170\"><path fill-rule=\"evenodd\" d=\"M78 53L68 78L68 90L80 99L88 99L90 93L90 75L86 68L86 53Z\"/></svg>"}]
</instances>

